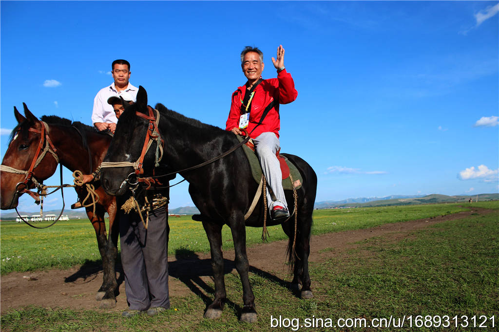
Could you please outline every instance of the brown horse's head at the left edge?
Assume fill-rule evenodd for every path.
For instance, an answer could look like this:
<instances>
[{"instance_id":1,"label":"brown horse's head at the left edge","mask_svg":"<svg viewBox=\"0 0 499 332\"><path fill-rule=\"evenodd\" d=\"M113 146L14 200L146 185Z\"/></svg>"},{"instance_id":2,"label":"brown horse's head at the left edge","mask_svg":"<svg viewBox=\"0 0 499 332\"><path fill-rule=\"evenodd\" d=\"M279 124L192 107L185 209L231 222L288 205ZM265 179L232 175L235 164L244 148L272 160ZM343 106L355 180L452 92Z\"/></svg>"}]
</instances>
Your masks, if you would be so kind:
<instances>
[{"instance_id":1,"label":"brown horse's head at the left edge","mask_svg":"<svg viewBox=\"0 0 499 332\"><path fill-rule=\"evenodd\" d=\"M41 182L50 177L58 164L55 158L43 153L45 144L48 144L44 124L28 110L26 104L22 105L25 117L14 106L17 126L10 134L10 142L1 163L2 210L17 207L23 189L34 188L35 179Z\"/></svg>"}]
</instances>

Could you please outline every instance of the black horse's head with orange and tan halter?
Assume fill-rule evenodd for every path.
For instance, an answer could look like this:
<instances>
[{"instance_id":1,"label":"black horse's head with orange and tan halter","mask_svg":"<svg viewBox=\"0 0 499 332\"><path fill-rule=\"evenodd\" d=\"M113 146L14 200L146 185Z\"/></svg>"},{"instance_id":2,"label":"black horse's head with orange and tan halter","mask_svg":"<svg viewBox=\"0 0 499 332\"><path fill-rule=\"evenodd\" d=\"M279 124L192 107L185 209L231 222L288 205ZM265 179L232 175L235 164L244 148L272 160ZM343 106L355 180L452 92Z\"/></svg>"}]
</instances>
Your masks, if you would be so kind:
<instances>
[{"instance_id":1,"label":"black horse's head with orange and tan halter","mask_svg":"<svg viewBox=\"0 0 499 332\"><path fill-rule=\"evenodd\" d=\"M147 92L142 86L137 102L123 106L125 111L101 165L101 183L110 195L123 195L130 186L137 185L139 175L152 174L160 140L157 127L152 124L156 113L147 106Z\"/></svg>"}]
</instances>

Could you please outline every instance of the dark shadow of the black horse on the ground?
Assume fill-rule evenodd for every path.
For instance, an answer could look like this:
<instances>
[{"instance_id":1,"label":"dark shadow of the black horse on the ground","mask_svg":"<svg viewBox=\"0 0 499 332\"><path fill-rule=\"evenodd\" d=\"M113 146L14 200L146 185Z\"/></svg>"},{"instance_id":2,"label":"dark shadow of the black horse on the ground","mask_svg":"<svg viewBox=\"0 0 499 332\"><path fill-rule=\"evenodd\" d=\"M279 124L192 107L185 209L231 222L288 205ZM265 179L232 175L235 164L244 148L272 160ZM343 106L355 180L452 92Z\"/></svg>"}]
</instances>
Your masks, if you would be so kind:
<instances>
[{"instance_id":1,"label":"dark shadow of the black horse on the ground","mask_svg":"<svg viewBox=\"0 0 499 332\"><path fill-rule=\"evenodd\" d=\"M206 312L208 306L211 305L213 301L213 297L215 296L215 289L206 284L201 277L211 277L213 279L211 259L200 259L194 251L185 249L177 249L175 258L175 261L168 263L169 275L180 280L196 296L198 296L205 303ZM224 258L224 275L230 274L235 269L236 262ZM273 274L260 270L251 265L249 271L279 285L280 287L289 289L294 296L299 298L299 291L292 289L290 282L284 281ZM212 297L209 297L206 294L210 294ZM228 299L226 300L226 304L233 308L236 313L241 313L243 311L243 308L240 305Z\"/></svg>"}]
</instances>

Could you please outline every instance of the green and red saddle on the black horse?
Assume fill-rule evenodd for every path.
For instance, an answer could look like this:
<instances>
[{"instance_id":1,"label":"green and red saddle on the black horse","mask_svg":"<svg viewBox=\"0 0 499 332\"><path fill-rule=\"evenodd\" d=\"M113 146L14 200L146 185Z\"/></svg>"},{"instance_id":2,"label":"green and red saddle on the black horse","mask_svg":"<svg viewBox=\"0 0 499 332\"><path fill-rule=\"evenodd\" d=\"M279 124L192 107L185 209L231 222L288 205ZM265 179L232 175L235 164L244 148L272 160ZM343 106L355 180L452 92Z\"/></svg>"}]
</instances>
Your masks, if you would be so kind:
<instances>
[{"instance_id":1,"label":"green and red saddle on the black horse","mask_svg":"<svg viewBox=\"0 0 499 332\"><path fill-rule=\"evenodd\" d=\"M236 136L239 142L243 142L244 138L242 136ZM243 151L248 158L248 162L250 163L251 174L256 183L260 183L261 179L261 166L256 154L254 153L254 144L252 140L243 145ZM303 179L301 177L298 168L294 166L286 157L279 155L279 151L275 154L277 160L279 161L279 165L282 172L282 188L284 190L293 190L301 187L303 183Z\"/></svg>"}]
</instances>

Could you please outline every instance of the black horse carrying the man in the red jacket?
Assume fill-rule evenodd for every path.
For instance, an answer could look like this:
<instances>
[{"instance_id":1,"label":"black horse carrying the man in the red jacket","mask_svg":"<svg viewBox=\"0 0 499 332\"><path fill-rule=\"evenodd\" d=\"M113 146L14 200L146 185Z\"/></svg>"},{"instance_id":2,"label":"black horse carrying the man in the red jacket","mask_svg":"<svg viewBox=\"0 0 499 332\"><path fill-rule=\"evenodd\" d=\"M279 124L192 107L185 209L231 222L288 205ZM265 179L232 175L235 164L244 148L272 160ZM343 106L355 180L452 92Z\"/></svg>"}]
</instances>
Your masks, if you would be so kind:
<instances>
[{"instance_id":1,"label":"black horse carrying the man in the red jacket","mask_svg":"<svg viewBox=\"0 0 499 332\"><path fill-rule=\"evenodd\" d=\"M239 141L236 136L218 127L203 124L198 120L187 118L179 113L168 110L161 104L156 105L159 111L159 135L164 141L164 155L159 161L161 172L181 170L211 160L236 146ZM112 163L131 162L138 160L143 150L146 132L152 122L144 119L151 109L147 106L147 94L140 87L137 103L127 106L121 116L116 132L109 146L104 163L110 163L110 168L102 169L101 182L104 189L112 195L122 195L127 190L125 179L133 173L133 167L112 167ZM153 143L143 160L144 175L152 175L156 161L157 143ZM161 155L161 154L159 154ZM301 284L301 297L312 298L310 276L308 273L308 255L310 253L310 231L312 212L317 187L317 176L314 170L301 158L285 155L300 171L303 178L302 186L297 189L297 229L295 251L292 250L295 238L293 216L281 224L289 237L288 259L294 262L293 288ZM161 156L160 156L161 157ZM156 175L158 168L156 167ZM254 295L248 278L248 258L246 254L245 226L263 226L264 207L261 200L252 215L244 219L246 211L257 190L257 183L251 176L250 164L242 148L209 165L189 171L180 171L189 181L189 193L193 202L201 211L203 227L205 228L212 255L212 266L215 277L215 299L208 306L205 318L219 318L226 299L224 268L222 256L222 226L231 228L236 253L236 269L243 284L244 308L241 320L256 321ZM293 202L293 192L285 192L286 200ZM290 204L292 206L292 204ZM292 210L292 209L291 209ZM268 218L267 218L268 220ZM272 222L268 223L272 225Z\"/></svg>"}]
</instances>

